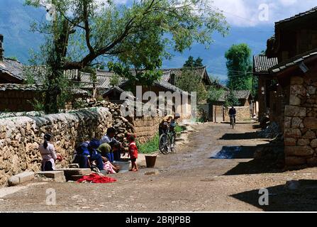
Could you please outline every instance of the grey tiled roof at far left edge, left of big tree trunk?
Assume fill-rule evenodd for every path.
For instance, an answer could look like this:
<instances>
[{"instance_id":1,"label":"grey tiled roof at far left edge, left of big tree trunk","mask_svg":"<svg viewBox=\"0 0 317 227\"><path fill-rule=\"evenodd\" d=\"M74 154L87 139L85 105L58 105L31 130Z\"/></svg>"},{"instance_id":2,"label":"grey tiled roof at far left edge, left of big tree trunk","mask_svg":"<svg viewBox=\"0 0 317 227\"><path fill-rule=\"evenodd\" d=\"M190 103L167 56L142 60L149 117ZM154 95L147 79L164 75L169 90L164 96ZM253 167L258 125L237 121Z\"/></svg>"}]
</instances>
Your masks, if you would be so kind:
<instances>
[{"instance_id":1,"label":"grey tiled roof at far left edge, left of big tree trunk","mask_svg":"<svg viewBox=\"0 0 317 227\"><path fill-rule=\"evenodd\" d=\"M23 65L16 60L5 58L0 62L0 72L11 75L12 77L23 80Z\"/></svg>"}]
</instances>

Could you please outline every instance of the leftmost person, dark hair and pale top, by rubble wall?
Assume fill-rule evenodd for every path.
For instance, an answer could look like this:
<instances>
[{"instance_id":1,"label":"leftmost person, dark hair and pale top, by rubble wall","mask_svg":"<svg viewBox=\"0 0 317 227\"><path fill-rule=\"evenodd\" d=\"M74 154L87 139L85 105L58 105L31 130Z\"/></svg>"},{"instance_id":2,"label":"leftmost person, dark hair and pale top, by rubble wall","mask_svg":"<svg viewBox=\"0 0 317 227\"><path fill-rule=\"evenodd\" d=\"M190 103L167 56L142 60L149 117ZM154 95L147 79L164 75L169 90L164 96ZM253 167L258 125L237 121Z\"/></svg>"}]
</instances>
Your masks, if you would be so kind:
<instances>
[{"instance_id":1,"label":"leftmost person, dark hair and pale top, by rubble wall","mask_svg":"<svg viewBox=\"0 0 317 227\"><path fill-rule=\"evenodd\" d=\"M57 155L54 145L50 143L52 139L52 135L45 134L44 135L44 143L40 145L40 155L42 156L42 165L40 169L42 171L52 171L55 170L55 161L62 161L62 156Z\"/></svg>"}]
</instances>

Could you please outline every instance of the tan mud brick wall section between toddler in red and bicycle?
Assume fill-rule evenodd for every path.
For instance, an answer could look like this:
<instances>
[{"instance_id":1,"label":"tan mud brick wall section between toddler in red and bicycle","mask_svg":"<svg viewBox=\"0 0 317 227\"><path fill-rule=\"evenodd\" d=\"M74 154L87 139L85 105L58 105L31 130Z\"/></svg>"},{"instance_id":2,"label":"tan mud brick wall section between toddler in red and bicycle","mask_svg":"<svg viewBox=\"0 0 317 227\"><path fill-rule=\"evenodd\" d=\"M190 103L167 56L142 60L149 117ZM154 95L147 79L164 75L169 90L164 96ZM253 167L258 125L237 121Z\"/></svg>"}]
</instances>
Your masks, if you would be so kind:
<instances>
[{"instance_id":1,"label":"tan mud brick wall section between toddler in red and bicycle","mask_svg":"<svg viewBox=\"0 0 317 227\"><path fill-rule=\"evenodd\" d=\"M140 143L146 143L158 133L162 118L159 116L135 117L131 122L134 126L135 135Z\"/></svg>"}]
</instances>

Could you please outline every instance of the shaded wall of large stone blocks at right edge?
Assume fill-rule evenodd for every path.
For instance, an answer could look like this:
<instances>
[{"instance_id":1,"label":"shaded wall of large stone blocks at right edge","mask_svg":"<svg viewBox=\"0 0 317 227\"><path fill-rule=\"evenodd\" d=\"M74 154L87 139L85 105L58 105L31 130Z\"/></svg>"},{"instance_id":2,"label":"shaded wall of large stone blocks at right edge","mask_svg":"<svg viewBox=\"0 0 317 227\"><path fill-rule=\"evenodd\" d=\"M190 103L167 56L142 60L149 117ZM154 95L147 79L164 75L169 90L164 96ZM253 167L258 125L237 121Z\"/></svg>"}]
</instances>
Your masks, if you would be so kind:
<instances>
[{"instance_id":1,"label":"shaded wall of large stone blocks at right edge","mask_svg":"<svg viewBox=\"0 0 317 227\"><path fill-rule=\"evenodd\" d=\"M287 167L317 166L317 77L291 77L285 106L284 145Z\"/></svg>"}]
</instances>

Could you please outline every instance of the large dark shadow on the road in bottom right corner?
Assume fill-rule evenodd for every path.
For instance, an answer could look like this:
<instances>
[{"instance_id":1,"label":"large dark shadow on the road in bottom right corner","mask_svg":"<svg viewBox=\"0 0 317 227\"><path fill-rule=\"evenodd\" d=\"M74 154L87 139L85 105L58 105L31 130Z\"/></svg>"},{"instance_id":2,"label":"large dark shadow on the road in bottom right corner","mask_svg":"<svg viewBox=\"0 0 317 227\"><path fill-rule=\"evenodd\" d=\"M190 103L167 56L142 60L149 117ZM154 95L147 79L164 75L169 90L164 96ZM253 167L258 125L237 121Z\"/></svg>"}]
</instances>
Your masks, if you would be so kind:
<instances>
[{"instance_id":1,"label":"large dark shadow on the road in bottom right corner","mask_svg":"<svg viewBox=\"0 0 317 227\"><path fill-rule=\"evenodd\" d=\"M289 190L285 184L267 188L269 205L261 206L259 190L231 195L235 199L256 206L263 211L317 211L317 180L299 180L299 189Z\"/></svg>"}]
</instances>

